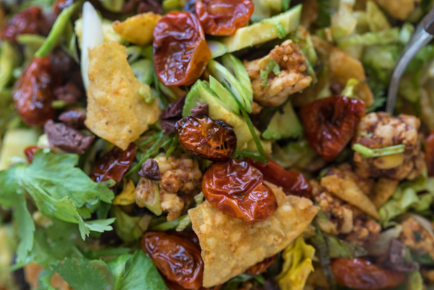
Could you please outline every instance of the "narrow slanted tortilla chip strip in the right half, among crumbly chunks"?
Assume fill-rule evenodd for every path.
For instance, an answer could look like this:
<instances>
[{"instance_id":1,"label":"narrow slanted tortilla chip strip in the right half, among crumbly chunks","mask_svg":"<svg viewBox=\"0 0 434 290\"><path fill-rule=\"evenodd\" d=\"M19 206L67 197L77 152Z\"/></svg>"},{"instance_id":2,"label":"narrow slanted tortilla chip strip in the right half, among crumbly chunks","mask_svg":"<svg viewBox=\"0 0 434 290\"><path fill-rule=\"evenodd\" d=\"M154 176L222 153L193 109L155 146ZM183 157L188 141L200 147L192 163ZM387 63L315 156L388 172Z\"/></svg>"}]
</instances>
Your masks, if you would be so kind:
<instances>
[{"instance_id":1,"label":"narrow slanted tortilla chip strip in the right half, among crumbly chunks","mask_svg":"<svg viewBox=\"0 0 434 290\"><path fill-rule=\"evenodd\" d=\"M325 176L321 178L321 186L329 193L336 195L341 200L345 200L362 212L379 219L379 213L374 203L348 175L344 177L338 177L337 175Z\"/></svg>"}]
</instances>

